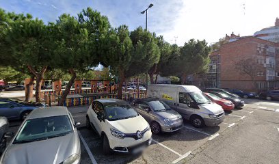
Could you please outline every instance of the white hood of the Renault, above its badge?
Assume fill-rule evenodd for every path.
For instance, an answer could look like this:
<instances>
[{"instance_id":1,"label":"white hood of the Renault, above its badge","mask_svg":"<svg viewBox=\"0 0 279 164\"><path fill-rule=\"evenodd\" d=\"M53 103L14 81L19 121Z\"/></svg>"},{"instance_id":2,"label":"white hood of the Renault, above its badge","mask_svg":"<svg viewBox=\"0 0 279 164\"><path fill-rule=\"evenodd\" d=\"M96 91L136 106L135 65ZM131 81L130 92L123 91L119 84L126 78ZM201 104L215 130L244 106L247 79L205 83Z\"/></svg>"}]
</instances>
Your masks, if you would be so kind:
<instances>
[{"instance_id":1,"label":"white hood of the Renault, above its badge","mask_svg":"<svg viewBox=\"0 0 279 164\"><path fill-rule=\"evenodd\" d=\"M136 133L137 131L144 131L144 129L149 126L148 122L142 118L142 115L138 115L135 118L108 122L112 128L115 128L122 133Z\"/></svg>"}]
</instances>

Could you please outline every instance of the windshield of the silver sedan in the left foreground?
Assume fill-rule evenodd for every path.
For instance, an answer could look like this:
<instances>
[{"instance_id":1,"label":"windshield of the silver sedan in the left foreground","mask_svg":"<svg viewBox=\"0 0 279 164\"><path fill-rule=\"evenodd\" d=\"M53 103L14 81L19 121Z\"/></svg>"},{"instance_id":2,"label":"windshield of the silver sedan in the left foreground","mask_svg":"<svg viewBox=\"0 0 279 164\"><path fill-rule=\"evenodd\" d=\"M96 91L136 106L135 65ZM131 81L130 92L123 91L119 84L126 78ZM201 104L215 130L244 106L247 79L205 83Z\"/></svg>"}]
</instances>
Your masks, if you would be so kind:
<instances>
[{"instance_id":1,"label":"windshield of the silver sedan in the left foreground","mask_svg":"<svg viewBox=\"0 0 279 164\"><path fill-rule=\"evenodd\" d=\"M16 135L13 143L25 143L60 137L72 131L67 115L30 119L24 122L21 131Z\"/></svg>"}]
</instances>

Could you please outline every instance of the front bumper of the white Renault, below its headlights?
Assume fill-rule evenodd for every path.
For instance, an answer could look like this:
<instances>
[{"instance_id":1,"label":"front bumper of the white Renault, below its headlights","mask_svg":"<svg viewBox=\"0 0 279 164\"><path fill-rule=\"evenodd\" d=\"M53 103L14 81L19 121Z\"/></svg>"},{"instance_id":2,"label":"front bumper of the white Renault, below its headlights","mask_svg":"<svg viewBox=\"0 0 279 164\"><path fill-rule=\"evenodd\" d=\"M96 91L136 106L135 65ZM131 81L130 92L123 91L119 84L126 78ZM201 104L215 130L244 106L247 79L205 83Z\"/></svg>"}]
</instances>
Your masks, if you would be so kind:
<instances>
[{"instance_id":1,"label":"front bumper of the white Renault, below its headlights","mask_svg":"<svg viewBox=\"0 0 279 164\"><path fill-rule=\"evenodd\" d=\"M145 148L151 143L151 130L146 131L141 139L134 139L132 137L125 137L123 139L109 135L109 146L114 152L133 152L137 148Z\"/></svg>"}]
</instances>

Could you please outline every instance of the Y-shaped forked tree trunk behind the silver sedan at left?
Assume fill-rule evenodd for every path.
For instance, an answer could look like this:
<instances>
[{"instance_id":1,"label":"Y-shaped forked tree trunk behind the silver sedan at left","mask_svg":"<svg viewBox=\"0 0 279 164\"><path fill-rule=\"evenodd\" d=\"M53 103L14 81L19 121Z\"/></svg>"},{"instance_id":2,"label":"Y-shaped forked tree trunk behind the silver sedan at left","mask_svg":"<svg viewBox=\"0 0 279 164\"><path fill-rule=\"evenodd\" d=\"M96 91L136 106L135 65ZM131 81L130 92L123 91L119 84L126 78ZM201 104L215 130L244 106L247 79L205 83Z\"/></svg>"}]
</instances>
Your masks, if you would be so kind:
<instances>
[{"instance_id":1,"label":"Y-shaped forked tree trunk behind the silver sedan at left","mask_svg":"<svg viewBox=\"0 0 279 164\"><path fill-rule=\"evenodd\" d=\"M42 79L44 78L44 72L47 70L47 66L44 66L40 72L37 72L32 66L27 66L29 71L34 74L36 77L36 92L35 92L35 98L36 102L40 102L40 90L42 86Z\"/></svg>"}]
</instances>

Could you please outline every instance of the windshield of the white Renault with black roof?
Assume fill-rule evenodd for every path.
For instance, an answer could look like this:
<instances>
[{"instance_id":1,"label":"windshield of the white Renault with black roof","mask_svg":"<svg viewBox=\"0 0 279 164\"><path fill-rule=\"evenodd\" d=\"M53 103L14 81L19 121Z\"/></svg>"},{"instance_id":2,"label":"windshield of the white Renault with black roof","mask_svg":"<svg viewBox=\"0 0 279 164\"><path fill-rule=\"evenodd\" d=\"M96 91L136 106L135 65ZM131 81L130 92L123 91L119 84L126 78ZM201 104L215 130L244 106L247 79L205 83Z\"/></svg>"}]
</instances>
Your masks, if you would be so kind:
<instances>
[{"instance_id":1,"label":"windshield of the white Renault with black roof","mask_svg":"<svg viewBox=\"0 0 279 164\"><path fill-rule=\"evenodd\" d=\"M128 104L105 106L105 113L107 114L107 120L109 121L134 118L138 115L137 111Z\"/></svg>"}]
</instances>

